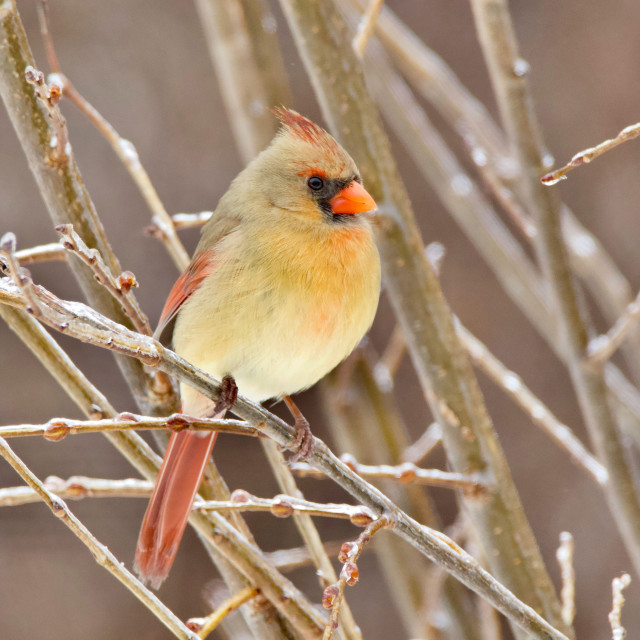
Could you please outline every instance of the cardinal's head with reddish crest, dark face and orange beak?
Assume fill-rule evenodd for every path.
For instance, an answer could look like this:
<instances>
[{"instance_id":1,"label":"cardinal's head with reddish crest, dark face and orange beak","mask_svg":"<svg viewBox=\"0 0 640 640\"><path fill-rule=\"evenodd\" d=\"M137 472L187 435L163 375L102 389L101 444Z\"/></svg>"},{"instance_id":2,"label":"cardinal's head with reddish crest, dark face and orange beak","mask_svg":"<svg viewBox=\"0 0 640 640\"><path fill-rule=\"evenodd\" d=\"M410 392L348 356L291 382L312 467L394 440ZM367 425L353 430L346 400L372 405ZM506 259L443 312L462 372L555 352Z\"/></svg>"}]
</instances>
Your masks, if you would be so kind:
<instances>
[{"instance_id":1,"label":"cardinal's head with reddish crest, dark face and orange beak","mask_svg":"<svg viewBox=\"0 0 640 640\"><path fill-rule=\"evenodd\" d=\"M275 113L281 130L246 170L254 193L292 222L360 224L359 214L377 207L351 156L299 113L285 108Z\"/></svg>"}]
</instances>

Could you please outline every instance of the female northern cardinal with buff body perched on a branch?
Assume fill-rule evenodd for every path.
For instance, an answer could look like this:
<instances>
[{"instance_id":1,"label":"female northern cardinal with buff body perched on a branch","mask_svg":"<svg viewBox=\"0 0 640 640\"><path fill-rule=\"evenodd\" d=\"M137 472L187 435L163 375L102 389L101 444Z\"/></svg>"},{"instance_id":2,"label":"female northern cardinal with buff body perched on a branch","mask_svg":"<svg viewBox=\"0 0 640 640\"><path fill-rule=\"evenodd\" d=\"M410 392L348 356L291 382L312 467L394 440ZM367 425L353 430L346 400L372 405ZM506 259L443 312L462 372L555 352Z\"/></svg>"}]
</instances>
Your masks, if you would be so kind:
<instances>
[{"instance_id":1,"label":"female northern cardinal with buff body perched on a branch","mask_svg":"<svg viewBox=\"0 0 640 640\"><path fill-rule=\"evenodd\" d=\"M310 120L286 109L277 115L281 131L220 199L156 331L177 316L175 351L218 379L233 378L256 402L289 400L346 358L371 326L380 293L373 233L357 215L376 204L355 163ZM212 414L211 401L191 387L182 384L181 394L184 413ZM296 424L303 420L298 413ZM215 439L183 431L169 441L135 559L156 588Z\"/></svg>"}]
</instances>

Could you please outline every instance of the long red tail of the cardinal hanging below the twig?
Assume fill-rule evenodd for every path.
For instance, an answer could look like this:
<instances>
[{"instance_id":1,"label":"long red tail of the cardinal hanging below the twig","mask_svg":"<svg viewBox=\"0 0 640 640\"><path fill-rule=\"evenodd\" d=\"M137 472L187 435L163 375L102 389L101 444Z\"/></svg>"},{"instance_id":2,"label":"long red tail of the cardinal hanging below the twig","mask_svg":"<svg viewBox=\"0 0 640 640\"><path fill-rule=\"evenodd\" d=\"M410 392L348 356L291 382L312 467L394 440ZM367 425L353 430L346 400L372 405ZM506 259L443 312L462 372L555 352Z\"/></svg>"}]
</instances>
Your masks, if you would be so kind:
<instances>
[{"instance_id":1,"label":"long red tail of the cardinal hanging below the twig","mask_svg":"<svg viewBox=\"0 0 640 640\"><path fill-rule=\"evenodd\" d=\"M144 514L135 570L157 589L167 577L217 433L173 433Z\"/></svg>"}]
</instances>

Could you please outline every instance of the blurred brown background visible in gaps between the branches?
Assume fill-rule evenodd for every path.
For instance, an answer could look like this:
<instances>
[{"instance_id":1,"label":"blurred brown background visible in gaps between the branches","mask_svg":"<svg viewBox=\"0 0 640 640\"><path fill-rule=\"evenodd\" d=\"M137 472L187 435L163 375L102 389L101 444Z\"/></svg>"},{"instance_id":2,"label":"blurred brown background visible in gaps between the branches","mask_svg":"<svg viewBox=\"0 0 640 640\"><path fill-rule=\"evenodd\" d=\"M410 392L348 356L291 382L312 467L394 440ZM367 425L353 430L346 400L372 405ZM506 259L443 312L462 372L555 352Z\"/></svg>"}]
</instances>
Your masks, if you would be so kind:
<instances>
[{"instance_id":1,"label":"blurred brown background visible in gaps between the branches","mask_svg":"<svg viewBox=\"0 0 640 640\"><path fill-rule=\"evenodd\" d=\"M277 3L273 4L294 93L291 106L320 119L286 23ZM444 57L496 115L468 4L388 0L387 5ZM46 70L35 3L23 0L19 8L38 65ZM639 119L640 3L514 0L511 8L522 54L531 65L535 103L556 166ZM193 5L175 0L112 0L108 4L58 0L51 2L50 14L63 71L118 132L134 142L167 210L213 209L242 163ZM63 112L78 164L112 245L123 268L136 274L138 298L155 324L176 278L175 269L162 245L143 235L143 227L149 224L148 210L111 149L73 105L63 103ZM434 120L442 125L437 117ZM450 131L441 128L460 149ZM399 144L396 151L425 242L437 240L446 246L442 282L453 310L584 440L565 368L498 286ZM632 142L575 171L556 187L612 254L634 290L640 287L639 163L640 146ZM4 110L0 110L0 222L0 232L17 234L20 248L56 239ZM183 234L189 250L195 247L197 235L193 230ZM31 270L37 282L59 296L79 297L62 263L35 265ZM600 323L599 328L607 327ZM393 319L383 301L371 333L374 345L382 349L392 329ZM135 411L110 354L56 337L118 410ZM569 530L575 536L577 636L581 640L608 637L611 579L630 571L631 564L602 496L492 383L479 377L556 584L558 535ZM408 362L399 373L397 396L415 439L431 417ZM319 394L314 390L300 398L314 432L330 442L318 405ZM0 323L0 423L39 423L54 416L80 417L53 379ZM22 439L11 444L42 478L51 474L132 475L125 460L99 435L69 437L60 443ZM244 488L264 497L278 492L257 442L223 436L215 458L232 489ZM427 464L444 468L445 461L438 454ZM0 464L0 486L18 484L15 473ZM328 481L305 479L300 484L310 499L348 500ZM443 520L450 524L456 513L453 496L444 490L432 494ZM72 502L71 508L131 566L145 504L139 499L88 499ZM300 544L291 521L268 514L249 515L247 520L267 551ZM351 525L340 521L318 519L317 524L324 540L357 535ZM203 615L210 609L205 595L215 577L201 545L188 531L159 595L183 619ZM301 569L292 577L315 601L320 600L321 590L311 569ZM360 582L347 595L367 639L406 637L390 605L381 615L381 603L389 602L385 589L375 556L366 553L360 561ZM638 585L627 591L623 622L630 637L640 633L640 608L633 604L639 594ZM44 505L34 504L0 510L0 637L112 640L170 636Z\"/></svg>"}]
</instances>

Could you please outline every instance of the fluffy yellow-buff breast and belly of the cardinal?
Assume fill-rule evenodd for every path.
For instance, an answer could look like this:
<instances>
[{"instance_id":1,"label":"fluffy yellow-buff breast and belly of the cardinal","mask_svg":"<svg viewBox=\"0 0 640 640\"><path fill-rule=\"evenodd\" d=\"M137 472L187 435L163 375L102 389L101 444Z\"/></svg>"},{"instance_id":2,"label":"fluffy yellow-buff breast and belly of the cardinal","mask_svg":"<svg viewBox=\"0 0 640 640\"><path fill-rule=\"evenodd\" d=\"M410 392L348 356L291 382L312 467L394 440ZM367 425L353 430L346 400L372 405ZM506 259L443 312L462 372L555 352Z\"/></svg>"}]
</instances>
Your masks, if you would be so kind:
<instances>
[{"instance_id":1,"label":"fluffy yellow-buff breast and belly of the cardinal","mask_svg":"<svg viewBox=\"0 0 640 640\"><path fill-rule=\"evenodd\" d=\"M174 346L254 400L314 384L371 326L380 262L368 227L305 237L276 232L225 247L180 313Z\"/></svg>"}]
</instances>

